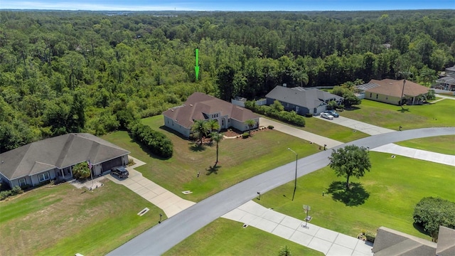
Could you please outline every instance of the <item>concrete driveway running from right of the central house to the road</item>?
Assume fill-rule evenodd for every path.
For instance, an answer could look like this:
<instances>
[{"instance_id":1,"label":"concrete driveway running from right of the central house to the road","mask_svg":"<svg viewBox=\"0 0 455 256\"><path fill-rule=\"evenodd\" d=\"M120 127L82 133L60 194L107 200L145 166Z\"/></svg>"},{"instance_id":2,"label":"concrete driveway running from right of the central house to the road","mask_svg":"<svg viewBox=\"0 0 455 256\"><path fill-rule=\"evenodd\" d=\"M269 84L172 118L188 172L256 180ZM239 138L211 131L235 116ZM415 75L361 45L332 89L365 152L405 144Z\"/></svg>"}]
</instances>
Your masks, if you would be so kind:
<instances>
[{"instance_id":1,"label":"concrete driveway running from right of the central house to the road","mask_svg":"<svg viewBox=\"0 0 455 256\"><path fill-rule=\"evenodd\" d=\"M316 144L321 145L321 146L326 144L328 149L343 144L343 142L338 142L338 141L336 141L334 139L328 139L326 137L322 137L320 135L313 134L311 132L306 132L306 131L301 130L301 129L290 127L287 124L282 124L282 123L279 123L279 122L275 122L275 121L273 121L271 119L267 119L267 118L264 118L264 117L260 117L259 118L259 124L261 124L261 126L264 126L264 127L267 127L269 125L273 125L274 129L276 129L279 132L283 132L285 134L289 134L289 135L292 135L294 137L298 137L300 139L305 139L305 140L307 140L309 142L313 142L313 143L316 143Z\"/></svg>"}]
</instances>

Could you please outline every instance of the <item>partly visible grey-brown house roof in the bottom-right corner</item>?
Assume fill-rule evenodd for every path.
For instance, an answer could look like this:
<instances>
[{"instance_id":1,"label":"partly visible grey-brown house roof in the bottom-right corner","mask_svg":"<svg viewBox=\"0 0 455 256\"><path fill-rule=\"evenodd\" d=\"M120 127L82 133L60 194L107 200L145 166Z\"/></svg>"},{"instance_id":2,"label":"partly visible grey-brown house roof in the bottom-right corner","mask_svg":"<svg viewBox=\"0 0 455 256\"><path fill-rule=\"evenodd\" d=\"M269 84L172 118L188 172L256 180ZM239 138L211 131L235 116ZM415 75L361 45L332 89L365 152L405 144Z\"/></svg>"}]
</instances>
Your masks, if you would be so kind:
<instances>
[{"instance_id":1,"label":"partly visible grey-brown house roof in the bottom-right corner","mask_svg":"<svg viewBox=\"0 0 455 256\"><path fill-rule=\"evenodd\" d=\"M439 226L438 240L431 242L391 228L380 227L371 251L375 256L453 256L455 230Z\"/></svg>"}]
</instances>

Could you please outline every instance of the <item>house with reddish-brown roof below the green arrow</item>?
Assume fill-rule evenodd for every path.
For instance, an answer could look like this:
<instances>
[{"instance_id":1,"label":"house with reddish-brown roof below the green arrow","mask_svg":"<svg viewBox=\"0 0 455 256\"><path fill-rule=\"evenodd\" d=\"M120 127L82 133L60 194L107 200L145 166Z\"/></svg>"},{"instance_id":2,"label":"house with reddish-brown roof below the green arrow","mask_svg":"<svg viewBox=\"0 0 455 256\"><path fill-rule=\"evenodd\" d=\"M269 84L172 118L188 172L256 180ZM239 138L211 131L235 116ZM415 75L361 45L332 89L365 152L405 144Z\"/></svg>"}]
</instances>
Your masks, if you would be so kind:
<instances>
[{"instance_id":1,"label":"house with reddish-brown roof below the green arrow","mask_svg":"<svg viewBox=\"0 0 455 256\"><path fill-rule=\"evenodd\" d=\"M194 92L183 105L166 110L163 115L166 127L187 138L190 137L195 120L215 119L220 124L220 129L233 127L245 132L250 129L245 121L253 119L256 124L252 129L259 127L259 115L251 110L202 92Z\"/></svg>"}]
</instances>

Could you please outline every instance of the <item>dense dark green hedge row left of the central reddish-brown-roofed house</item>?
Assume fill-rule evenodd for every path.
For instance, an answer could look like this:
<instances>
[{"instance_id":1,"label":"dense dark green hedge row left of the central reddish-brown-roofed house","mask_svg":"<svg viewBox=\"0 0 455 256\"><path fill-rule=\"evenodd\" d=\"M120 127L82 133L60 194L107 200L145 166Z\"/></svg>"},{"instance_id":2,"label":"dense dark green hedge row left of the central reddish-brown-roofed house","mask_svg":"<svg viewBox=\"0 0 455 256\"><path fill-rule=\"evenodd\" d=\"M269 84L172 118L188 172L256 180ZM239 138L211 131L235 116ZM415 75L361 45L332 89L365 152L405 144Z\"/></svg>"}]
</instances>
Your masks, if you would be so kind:
<instances>
[{"instance_id":1,"label":"dense dark green hedge row left of the central reddish-brown-roofed house","mask_svg":"<svg viewBox=\"0 0 455 256\"><path fill-rule=\"evenodd\" d=\"M151 153L164 158L169 158L173 153L173 144L171 139L161 132L156 132L148 125L135 122L129 127L129 132L132 133L133 138L147 146Z\"/></svg>"}]
</instances>

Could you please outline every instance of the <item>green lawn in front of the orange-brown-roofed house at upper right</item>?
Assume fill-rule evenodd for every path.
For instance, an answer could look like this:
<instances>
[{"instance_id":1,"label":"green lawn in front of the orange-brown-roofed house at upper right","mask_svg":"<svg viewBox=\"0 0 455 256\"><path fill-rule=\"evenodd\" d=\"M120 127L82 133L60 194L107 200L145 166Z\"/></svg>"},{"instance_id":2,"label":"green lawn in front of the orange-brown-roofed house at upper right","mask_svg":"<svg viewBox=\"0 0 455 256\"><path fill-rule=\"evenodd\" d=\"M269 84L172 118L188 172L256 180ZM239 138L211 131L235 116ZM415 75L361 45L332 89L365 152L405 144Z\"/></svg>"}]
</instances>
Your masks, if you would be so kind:
<instances>
[{"instance_id":1,"label":"green lawn in front of the orange-brown-roofed house at upper right","mask_svg":"<svg viewBox=\"0 0 455 256\"><path fill-rule=\"evenodd\" d=\"M455 100L441 100L430 105L400 106L362 100L357 110L342 112L344 117L389 129L417 129L455 126Z\"/></svg>"}]
</instances>

